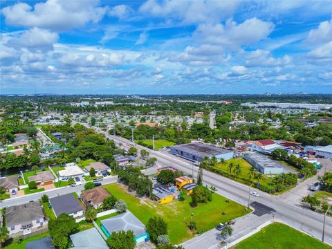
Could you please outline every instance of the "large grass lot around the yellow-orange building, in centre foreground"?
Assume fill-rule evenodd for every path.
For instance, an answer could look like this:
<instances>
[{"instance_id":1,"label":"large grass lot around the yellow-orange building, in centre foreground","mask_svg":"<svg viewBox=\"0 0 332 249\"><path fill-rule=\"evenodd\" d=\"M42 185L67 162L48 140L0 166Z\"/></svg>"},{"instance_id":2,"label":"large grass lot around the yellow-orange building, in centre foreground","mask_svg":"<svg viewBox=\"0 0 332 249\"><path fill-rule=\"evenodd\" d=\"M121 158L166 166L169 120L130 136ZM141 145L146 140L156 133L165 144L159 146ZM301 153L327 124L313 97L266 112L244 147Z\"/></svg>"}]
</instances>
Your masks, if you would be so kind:
<instances>
[{"instance_id":1,"label":"large grass lot around the yellow-orange building, in centre foreground","mask_svg":"<svg viewBox=\"0 0 332 249\"><path fill-rule=\"evenodd\" d=\"M149 199L136 198L117 183L104 185L104 188L116 196L117 199L124 200L128 209L142 223L146 224L154 216L163 217L167 222L169 239L174 244L194 237L194 234L187 228L192 213L194 214L193 220L196 222L197 230L200 232L211 230L218 223L230 221L247 214L242 205L234 203L219 194L213 194L213 200L209 203L199 203L196 208L190 208L190 197L185 201L175 200L160 205ZM226 214L223 215L222 212Z\"/></svg>"}]
</instances>

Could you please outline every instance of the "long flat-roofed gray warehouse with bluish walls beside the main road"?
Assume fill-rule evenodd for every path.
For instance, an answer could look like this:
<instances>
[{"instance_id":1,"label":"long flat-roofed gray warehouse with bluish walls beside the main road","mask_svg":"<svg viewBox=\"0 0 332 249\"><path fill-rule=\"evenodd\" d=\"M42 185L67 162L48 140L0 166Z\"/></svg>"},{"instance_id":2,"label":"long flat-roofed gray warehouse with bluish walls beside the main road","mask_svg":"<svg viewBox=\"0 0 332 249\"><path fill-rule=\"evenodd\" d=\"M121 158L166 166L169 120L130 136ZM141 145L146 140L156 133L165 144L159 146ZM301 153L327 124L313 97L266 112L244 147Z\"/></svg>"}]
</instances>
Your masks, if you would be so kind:
<instances>
[{"instance_id":1,"label":"long flat-roofed gray warehouse with bluish walls beside the main road","mask_svg":"<svg viewBox=\"0 0 332 249\"><path fill-rule=\"evenodd\" d=\"M200 142L192 142L184 145L174 145L171 147L170 152L179 156L183 156L190 160L201 162L203 158L212 158L215 156L217 159L230 160L234 156L234 152L228 149L215 147L212 145L205 145Z\"/></svg>"}]
</instances>

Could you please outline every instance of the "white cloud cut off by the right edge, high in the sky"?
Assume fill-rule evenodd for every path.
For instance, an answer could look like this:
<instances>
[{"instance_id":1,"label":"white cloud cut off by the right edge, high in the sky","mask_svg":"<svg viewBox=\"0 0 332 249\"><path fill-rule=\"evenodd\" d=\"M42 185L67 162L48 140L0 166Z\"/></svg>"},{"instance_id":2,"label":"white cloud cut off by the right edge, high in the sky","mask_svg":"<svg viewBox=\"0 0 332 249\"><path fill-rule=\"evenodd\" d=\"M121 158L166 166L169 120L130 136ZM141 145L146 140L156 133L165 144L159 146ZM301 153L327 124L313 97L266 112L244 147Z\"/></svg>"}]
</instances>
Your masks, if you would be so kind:
<instances>
[{"instance_id":1,"label":"white cloud cut off by the right edge, high in the sky","mask_svg":"<svg viewBox=\"0 0 332 249\"><path fill-rule=\"evenodd\" d=\"M322 44L332 41L332 19L323 21L317 29L310 30L306 42L310 44Z\"/></svg>"}]
</instances>

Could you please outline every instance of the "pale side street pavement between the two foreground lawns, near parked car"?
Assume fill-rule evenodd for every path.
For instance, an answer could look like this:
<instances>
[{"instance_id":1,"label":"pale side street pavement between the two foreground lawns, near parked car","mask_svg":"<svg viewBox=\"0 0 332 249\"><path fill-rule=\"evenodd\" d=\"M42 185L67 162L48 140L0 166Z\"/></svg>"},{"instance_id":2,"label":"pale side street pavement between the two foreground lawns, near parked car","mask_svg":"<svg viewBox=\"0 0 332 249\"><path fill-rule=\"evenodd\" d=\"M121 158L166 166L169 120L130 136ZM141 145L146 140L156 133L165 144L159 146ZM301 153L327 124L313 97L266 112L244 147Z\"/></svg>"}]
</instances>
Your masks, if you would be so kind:
<instances>
[{"instance_id":1,"label":"pale side street pavement between the two foreground lawns, near parked car","mask_svg":"<svg viewBox=\"0 0 332 249\"><path fill-rule=\"evenodd\" d=\"M239 219L235 220L234 225L232 225L233 234L228 239L223 239L220 235L220 231L215 228L201 234L200 236L194 237L188 241L181 243L185 249L217 249L217 248L229 248L234 246L234 244L239 243L242 239L251 236L253 233L257 232L268 225L273 219L272 214L265 214L263 216L257 216L255 214L248 214ZM225 244L221 244L225 241Z\"/></svg>"}]
</instances>

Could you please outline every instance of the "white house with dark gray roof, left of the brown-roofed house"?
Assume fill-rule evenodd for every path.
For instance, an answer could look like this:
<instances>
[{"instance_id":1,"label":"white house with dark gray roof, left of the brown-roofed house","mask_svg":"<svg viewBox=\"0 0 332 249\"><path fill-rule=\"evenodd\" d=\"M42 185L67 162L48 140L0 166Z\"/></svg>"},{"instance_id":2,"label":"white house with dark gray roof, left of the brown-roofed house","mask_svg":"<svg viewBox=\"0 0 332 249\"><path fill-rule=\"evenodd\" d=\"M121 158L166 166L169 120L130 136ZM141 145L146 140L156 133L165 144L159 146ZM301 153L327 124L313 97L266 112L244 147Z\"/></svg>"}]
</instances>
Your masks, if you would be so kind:
<instances>
[{"instance_id":1,"label":"white house with dark gray roof, left of the brown-roofed house","mask_svg":"<svg viewBox=\"0 0 332 249\"><path fill-rule=\"evenodd\" d=\"M64 194L61 196L56 196L50 198L50 205L52 205L55 216L60 214L69 214L74 218L82 216L84 214L84 209L82 205L78 202L73 194Z\"/></svg>"}]
</instances>

